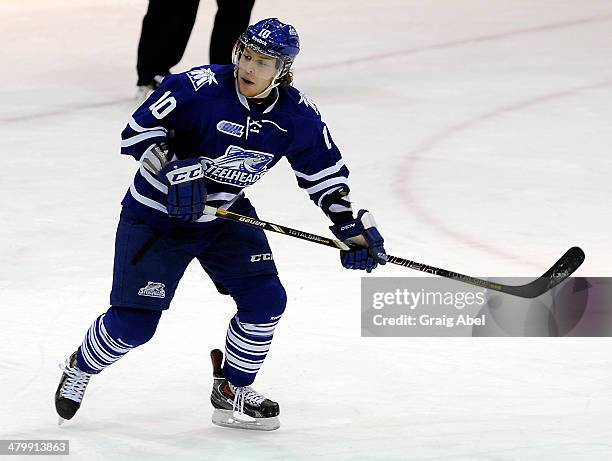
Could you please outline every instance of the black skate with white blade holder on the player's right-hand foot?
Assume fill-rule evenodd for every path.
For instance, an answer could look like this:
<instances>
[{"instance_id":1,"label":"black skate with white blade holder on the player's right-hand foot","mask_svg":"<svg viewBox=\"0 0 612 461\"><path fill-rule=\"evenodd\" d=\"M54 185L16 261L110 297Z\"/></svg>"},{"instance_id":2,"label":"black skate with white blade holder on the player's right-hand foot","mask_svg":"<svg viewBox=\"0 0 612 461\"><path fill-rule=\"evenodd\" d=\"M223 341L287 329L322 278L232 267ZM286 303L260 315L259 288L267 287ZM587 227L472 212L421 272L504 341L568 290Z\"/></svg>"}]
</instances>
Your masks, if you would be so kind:
<instances>
[{"instance_id":1,"label":"black skate with white blade holder on the player's right-hand foot","mask_svg":"<svg viewBox=\"0 0 612 461\"><path fill-rule=\"evenodd\" d=\"M213 389L210 403L215 408L212 422L218 426L258 431L273 431L280 427L278 403L265 398L249 386L236 387L223 376L223 353L211 351Z\"/></svg>"}]
</instances>

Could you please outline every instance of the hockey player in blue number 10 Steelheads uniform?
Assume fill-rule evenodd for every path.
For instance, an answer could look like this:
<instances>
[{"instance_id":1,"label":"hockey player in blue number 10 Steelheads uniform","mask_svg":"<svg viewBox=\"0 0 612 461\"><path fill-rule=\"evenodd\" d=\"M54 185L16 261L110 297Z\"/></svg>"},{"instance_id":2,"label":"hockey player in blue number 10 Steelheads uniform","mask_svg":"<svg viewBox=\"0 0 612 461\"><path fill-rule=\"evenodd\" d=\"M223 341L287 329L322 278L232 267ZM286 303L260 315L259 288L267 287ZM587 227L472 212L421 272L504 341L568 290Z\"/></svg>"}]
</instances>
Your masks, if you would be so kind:
<instances>
[{"instance_id":1,"label":"hockey player in blue number 10 Steelheads uniform","mask_svg":"<svg viewBox=\"0 0 612 461\"><path fill-rule=\"evenodd\" d=\"M385 264L371 214L353 216L348 169L317 107L291 86L296 30L276 18L249 26L233 65L170 75L133 114L122 153L140 162L123 199L116 236L111 307L63 365L55 403L70 419L91 376L154 334L187 265L196 258L217 290L232 296L225 362L211 353L213 422L271 430L279 406L250 385L285 310L270 246L260 229L220 221L204 204L257 217L244 189L281 158L298 185L331 219L335 236L357 243L344 267L370 272ZM262 256L263 255L263 256Z\"/></svg>"}]
</instances>

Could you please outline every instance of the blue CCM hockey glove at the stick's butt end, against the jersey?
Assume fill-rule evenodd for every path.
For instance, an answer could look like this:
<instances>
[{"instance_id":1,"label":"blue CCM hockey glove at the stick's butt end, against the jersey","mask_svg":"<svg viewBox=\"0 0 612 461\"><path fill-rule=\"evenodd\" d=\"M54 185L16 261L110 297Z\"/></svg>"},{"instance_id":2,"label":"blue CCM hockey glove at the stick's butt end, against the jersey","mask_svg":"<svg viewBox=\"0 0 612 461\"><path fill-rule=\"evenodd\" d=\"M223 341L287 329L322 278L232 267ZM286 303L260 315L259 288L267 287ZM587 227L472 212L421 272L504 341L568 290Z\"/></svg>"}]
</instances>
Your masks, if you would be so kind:
<instances>
[{"instance_id":1,"label":"blue CCM hockey glove at the stick's butt end, against the jersey","mask_svg":"<svg viewBox=\"0 0 612 461\"><path fill-rule=\"evenodd\" d=\"M168 163L161 176L168 186L168 216L187 222L197 221L204 214L206 185L199 158Z\"/></svg>"}]
</instances>

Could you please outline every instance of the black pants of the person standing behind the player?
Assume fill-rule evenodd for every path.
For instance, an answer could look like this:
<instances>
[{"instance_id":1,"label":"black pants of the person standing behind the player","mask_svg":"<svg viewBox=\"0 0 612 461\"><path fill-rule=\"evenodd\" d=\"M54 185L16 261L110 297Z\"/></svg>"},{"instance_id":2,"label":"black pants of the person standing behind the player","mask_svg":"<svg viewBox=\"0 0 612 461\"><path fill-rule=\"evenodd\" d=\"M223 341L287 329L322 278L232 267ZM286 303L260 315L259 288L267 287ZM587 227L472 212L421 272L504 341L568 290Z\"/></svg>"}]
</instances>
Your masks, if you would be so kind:
<instances>
[{"instance_id":1,"label":"black pants of the person standing behind the player","mask_svg":"<svg viewBox=\"0 0 612 461\"><path fill-rule=\"evenodd\" d=\"M138 85L166 75L185 53L200 0L149 0L138 43ZM249 25L255 0L217 0L210 37L210 63L228 64L232 48Z\"/></svg>"}]
</instances>

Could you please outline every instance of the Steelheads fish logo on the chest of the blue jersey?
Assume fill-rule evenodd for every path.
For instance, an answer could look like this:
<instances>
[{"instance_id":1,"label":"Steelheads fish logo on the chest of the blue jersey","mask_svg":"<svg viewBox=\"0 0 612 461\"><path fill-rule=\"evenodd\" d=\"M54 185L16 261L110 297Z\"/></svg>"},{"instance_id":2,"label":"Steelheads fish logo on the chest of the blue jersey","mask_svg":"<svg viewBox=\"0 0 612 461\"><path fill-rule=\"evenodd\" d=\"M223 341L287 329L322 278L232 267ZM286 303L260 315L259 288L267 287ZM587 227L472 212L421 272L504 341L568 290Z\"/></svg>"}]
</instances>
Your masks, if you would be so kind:
<instances>
[{"instance_id":1,"label":"Steelheads fish logo on the chest of the blue jersey","mask_svg":"<svg viewBox=\"0 0 612 461\"><path fill-rule=\"evenodd\" d=\"M274 155L229 146L221 157L202 158L204 176L212 181L238 187L249 187L268 171Z\"/></svg>"}]
</instances>

